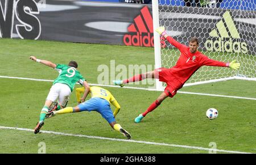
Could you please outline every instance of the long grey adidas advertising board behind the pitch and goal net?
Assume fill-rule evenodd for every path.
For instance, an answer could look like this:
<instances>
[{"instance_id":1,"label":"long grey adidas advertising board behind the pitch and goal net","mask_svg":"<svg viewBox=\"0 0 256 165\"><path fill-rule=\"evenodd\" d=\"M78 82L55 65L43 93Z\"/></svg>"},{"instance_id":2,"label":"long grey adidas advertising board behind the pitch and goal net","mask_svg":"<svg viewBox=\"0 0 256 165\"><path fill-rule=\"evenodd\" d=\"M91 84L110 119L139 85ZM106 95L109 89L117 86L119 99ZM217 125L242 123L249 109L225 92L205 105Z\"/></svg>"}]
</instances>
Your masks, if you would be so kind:
<instances>
[{"instance_id":1,"label":"long grey adidas advertising board behind the pitch and goal net","mask_svg":"<svg viewBox=\"0 0 256 165\"><path fill-rule=\"evenodd\" d=\"M77 43L154 46L152 7L143 4L89 1L0 0L0 37ZM46 4L42 4L46 2ZM170 22L168 35L200 49L253 54L256 11L161 6L160 24ZM165 9L166 8L166 9ZM250 36L250 37L248 37ZM163 47L168 45L161 40Z\"/></svg>"}]
</instances>

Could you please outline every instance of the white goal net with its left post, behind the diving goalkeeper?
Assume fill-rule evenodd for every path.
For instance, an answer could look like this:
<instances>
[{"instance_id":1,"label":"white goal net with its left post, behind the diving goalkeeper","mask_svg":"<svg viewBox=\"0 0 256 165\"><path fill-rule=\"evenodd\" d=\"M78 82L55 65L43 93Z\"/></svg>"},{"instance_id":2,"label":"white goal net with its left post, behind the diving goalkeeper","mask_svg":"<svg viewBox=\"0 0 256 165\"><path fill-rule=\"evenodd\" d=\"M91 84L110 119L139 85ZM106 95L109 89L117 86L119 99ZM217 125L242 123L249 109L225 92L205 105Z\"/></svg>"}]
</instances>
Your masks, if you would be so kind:
<instances>
[{"instance_id":1,"label":"white goal net with its left post, behind the diving goalkeeper","mask_svg":"<svg viewBox=\"0 0 256 165\"><path fill-rule=\"evenodd\" d=\"M188 40L195 36L200 41L200 52L218 61L237 60L241 67L232 70L227 67L203 66L185 85L228 79L256 81L256 1L191 2L194 3L187 6L184 1L178 0L152 3L154 24L158 24L155 27L166 27L168 35L187 46ZM164 38L160 38L160 43L155 44L161 46L159 52L155 51L156 61L159 61L160 67L174 66L180 56L179 50Z\"/></svg>"}]
</instances>

